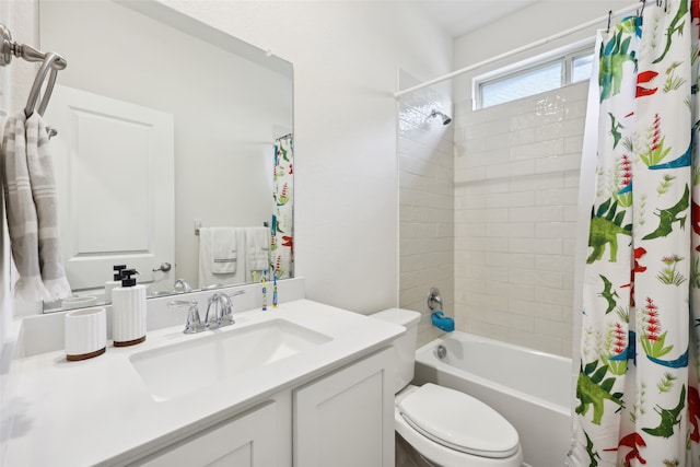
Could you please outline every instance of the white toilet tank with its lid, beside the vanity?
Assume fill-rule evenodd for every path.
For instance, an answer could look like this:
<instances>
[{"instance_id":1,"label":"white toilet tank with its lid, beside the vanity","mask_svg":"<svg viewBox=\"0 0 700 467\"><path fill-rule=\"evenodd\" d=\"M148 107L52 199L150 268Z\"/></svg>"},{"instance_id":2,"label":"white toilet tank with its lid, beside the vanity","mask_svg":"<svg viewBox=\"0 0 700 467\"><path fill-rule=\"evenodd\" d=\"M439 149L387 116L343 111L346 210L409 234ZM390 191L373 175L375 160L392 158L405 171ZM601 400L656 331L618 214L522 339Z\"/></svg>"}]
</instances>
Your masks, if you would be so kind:
<instances>
[{"instance_id":1,"label":"white toilet tank with its lid, beside the vanity","mask_svg":"<svg viewBox=\"0 0 700 467\"><path fill-rule=\"evenodd\" d=\"M400 325L406 328L406 332L392 342L396 364L396 376L394 378L394 394L396 394L413 380L420 313L410 310L389 308L374 313L370 315L370 317Z\"/></svg>"}]
</instances>

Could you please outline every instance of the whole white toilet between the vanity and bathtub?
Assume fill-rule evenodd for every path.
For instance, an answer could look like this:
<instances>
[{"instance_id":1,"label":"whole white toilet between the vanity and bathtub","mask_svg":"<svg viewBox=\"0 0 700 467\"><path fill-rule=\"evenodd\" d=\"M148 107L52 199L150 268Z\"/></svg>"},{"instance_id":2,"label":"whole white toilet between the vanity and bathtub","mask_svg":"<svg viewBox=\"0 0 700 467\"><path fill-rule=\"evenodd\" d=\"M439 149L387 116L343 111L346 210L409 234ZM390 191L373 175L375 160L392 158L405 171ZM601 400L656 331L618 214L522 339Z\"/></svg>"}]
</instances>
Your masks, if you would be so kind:
<instances>
[{"instance_id":1,"label":"whole white toilet between the vanity and bathtub","mask_svg":"<svg viewBox=\"0 0 700 467\"><path fill-rule=\"evenodd\" d=\"M520 467L523 451L517 431L499 412L458 390L413 378L420 313L390 308L373 318L406 327L395 350L394 427L429 466Z\"/></svg>"}]
</instances>

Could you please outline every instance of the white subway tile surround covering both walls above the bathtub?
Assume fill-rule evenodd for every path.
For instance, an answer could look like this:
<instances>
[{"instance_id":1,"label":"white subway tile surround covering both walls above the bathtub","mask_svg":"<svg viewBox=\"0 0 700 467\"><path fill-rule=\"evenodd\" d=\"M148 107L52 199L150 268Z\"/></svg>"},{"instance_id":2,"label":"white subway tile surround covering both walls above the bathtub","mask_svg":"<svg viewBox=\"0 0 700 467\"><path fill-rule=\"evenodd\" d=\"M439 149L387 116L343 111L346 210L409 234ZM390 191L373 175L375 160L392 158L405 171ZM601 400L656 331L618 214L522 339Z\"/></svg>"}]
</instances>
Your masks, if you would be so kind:
<instances>
[{"instance_id":1,"label":"white subway tile surround covering both walls above the bathtub","mask_svg":"<svg viewBox=\"0 0 700 467\"><path fill-rule=\"evenodd\" d=\"M401 306L423 311L428 288L450 282L451 248L446 308L457 329L571 355L586 93L580 83L476 112L456 103L454 167L441 125L400 131ZM401 100L401 118L425 105L417 98ZM444 232L452 203L453 237ZM420 343L439 334L420 329Z\"/></svg>"}]
</instances>

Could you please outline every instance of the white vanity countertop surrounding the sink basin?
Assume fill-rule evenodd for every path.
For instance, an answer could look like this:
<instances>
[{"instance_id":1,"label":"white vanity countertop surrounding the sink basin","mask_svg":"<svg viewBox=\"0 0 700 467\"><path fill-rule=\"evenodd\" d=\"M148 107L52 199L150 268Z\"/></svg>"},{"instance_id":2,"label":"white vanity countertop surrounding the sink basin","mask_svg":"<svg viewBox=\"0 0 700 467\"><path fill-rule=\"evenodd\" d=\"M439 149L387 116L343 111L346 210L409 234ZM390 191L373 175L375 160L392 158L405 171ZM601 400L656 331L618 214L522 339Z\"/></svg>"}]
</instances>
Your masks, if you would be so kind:
<instances>
[{"instance_id":1,"label":"white vanity countertop surrounding the sink basin","mask_svg":"<svg viewBox=\"0 0 700 467\"><path fill-rule=\"evenodd\" d=\"M143 343L107 345L105 354L68 362L62 350L13 361L0 386L5 467L115 465L164 446L173 436L230 417L385 347L404 328L308 300L235 314L236 324L183 334L183 325L150 331ZM332 338L312 352L269 363L195 393L156 401L129 355L228 332L260 319L283 318ZM0 457L1 458L1 457Z\"/></svg>"}]
</instances>

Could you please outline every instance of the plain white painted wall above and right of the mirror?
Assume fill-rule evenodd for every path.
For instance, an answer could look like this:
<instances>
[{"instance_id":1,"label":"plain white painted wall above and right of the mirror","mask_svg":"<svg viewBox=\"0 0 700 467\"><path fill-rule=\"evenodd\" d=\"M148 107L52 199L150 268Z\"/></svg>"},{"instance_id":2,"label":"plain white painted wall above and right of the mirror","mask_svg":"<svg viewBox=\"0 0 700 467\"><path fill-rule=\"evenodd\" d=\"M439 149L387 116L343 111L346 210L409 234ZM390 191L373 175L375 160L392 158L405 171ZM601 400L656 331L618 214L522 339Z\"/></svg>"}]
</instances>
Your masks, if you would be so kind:
<instances>
[{"instance_id":1,"label":"plain white painted wall above and right of the mirror","mask_svg":"<svg viewBox=\"0 0 700 467\"><path fill-rule=\"evenodd\" d=\"M167 3L294 63L296 275L312 300L396 306L397 68L448 72L452 40L410 2Z\"/></svg>"}]
</instances>

